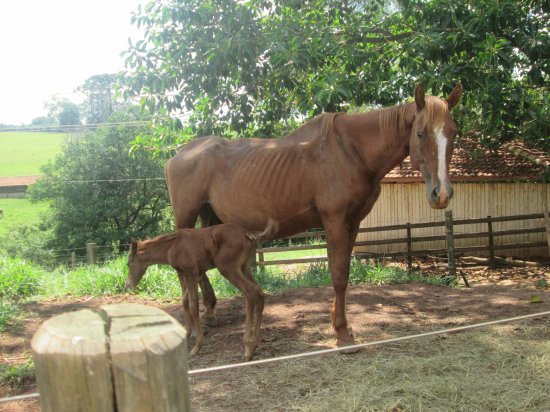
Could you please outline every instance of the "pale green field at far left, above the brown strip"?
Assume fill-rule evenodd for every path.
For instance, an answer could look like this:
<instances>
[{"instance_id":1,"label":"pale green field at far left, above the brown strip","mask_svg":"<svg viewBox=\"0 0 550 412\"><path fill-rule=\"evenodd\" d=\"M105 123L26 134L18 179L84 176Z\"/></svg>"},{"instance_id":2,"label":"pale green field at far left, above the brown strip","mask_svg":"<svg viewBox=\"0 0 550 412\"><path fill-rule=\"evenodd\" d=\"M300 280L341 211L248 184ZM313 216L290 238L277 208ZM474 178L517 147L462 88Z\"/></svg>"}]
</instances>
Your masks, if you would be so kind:
<instances>
[{"instance_id":1,"label":"pale green field at far left, above the brown strip","mask_svg":"<svg viewBox=\"0 0 550 412\"><path fill-rule=\"evenodd\" d=\"M61 151L65 133L1 132L0 177L40 174Z\"/></svg>"}]
</instances>

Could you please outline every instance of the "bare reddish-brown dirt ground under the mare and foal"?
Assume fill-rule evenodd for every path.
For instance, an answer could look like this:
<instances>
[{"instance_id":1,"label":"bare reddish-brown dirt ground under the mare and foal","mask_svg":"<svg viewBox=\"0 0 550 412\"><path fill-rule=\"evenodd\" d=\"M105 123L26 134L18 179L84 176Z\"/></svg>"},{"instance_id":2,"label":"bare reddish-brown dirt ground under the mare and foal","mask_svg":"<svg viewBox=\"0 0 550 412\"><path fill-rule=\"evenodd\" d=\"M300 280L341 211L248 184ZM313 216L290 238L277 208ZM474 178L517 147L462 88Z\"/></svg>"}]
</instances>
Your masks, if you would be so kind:
<instances>
[{"instance_id":1,"label":"bare reddish-brown dirt ground under the mare and foal","mask_svg":"<svg viewBox=\"0 0 550 412\"><path fill-rule=\"evenodd\" d=\"M482 269L467 273L472 287L448 288L421 283L360 285L349 288L348 321L358 343L503 319L550 310L550 267ZM539 287L536 287L538 285ZM330 328L332 288L289 290L266 299L261 345L255 359L331 348L335 338ZM41 322L59 313L83 308L96 309L113 303L142 303L166 310L183 322L180 302L155 301L134 295L104 298L63 298L25 305L25 317L1 335L0 361L21 364L30 358L30 339ZM190 370L240 362L244 300L224 299L217 306L218 326L207 328L206 345L190 359ZM380 348L379 350L383 350ZM355 356L355 355L352 355ZM363 355L368 356L368 354ZM244 373L244 372L243 372ZM192 377L194 409L252 410L242 403L232 409L212 404L202 387L211 387L215 374ZM206 385L205 382L210 383ZM34 381L23 388L0 385L0 398L36 392ZM246 401L245 401L246 402ZM201 405L200 408L197 406ZM204 407L208 405L208 407ZM38 399L0 403L0 411L40 411Z\"/></svg>"}]
</instances>

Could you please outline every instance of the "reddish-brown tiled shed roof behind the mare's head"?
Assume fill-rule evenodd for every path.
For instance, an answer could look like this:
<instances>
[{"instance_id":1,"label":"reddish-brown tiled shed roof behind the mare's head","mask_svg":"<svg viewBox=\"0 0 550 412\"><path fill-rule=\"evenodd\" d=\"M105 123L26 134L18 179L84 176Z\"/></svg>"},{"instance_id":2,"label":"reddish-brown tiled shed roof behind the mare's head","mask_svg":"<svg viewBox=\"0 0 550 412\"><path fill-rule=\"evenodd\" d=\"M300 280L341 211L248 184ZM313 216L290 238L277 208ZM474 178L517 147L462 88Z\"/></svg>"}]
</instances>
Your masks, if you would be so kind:
<instances>
[{"instance_id":1,"label":"reddish-brown tiled shed roof behind the mare's head","mask_svg":"<svg viewBox=\"0 0 550 412\"><path fill-rule=\"evenodd\" d=\"M541 180L550 168L550 154L523 142L506 143L493 150L475 137L462 137L455 144L449 174L452 181ZM383 182L420 181L407 157L386 175Z\"/></svg>"}]
</instances>

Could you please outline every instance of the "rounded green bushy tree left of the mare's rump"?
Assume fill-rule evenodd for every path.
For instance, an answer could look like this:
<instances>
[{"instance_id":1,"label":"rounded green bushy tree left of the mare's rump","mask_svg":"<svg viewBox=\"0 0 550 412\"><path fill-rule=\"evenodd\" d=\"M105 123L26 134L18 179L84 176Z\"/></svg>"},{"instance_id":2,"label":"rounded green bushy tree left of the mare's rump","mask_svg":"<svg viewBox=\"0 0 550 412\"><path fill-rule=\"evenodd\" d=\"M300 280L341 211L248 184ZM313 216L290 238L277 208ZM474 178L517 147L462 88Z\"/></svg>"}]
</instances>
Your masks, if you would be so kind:
<instances>
[{"instance_id":1,"label":"rounded green bushy tree left of the mare's rump","mask_svg":"<svg viewBox=\"0 0 550 412\"><path fill-rule=\"evenodd\" d=\"M117 116L113 121L131 120ZM66 141L29 189L33 200L51 202L54 248L124 244L163 232L169 222L163 166L131 158L129 143L142 127L98 128Z\"/></svg>"}]
</instances>

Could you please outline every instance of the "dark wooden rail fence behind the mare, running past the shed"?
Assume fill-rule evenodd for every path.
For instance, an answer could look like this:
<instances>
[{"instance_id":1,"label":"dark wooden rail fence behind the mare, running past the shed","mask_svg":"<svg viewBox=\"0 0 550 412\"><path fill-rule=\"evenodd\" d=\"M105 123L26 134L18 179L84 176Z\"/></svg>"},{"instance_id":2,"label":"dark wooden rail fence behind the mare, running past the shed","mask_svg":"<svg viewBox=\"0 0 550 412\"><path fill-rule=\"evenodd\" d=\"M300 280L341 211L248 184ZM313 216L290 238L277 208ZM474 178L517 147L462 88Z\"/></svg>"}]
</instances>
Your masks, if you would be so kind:
<instances>
[{"instance_id":1,"label":"dark wooden rail fence behind the mare, running past the shed","mask_svg":"<svg viewBox=\"0 0 550 412\"><path fill-rule=\"evenodd\" d=\"M525 221L533 219L544 219L545 225L534 227L534 228L522 228L522 229L510 229L510 230L493 230L493 224L497 222L513 222L513 221ZM479 225L485 224L486 230L484 231L475 231L467 233L468 225ZM454 230L457 226L466 228L462 229L459 232ZM430 236L415 236L415 229L427 228L427 227L441 227L440 235L430 235ZM445 228L447 228L445 230ZM406 223L402 225L390 225L390 226L379 226L371 228L362 228L359 230L359 233L372 233L372 232L381 232L381 231L393 231L396 232L396 237L391 239L384 240L372 240L372 241L360 241L355 243L355 247L368 247L375 245L386 245L386 244L396 244L402 243L406 244L406 252L388 252L388 253L368 253L368 252L358 252L355 253L356 256L360 257L406 257L409 265L411 265L413 256L427 256L427 255L446 255L448 253L448 248L442 249L414 249L414 244L418 242L426 241L446 241L446 245L449 245L451 242L454 244L455 240L459 239L480 239L480 244L476 246L466 246L466 247L454 247L454 254L463 254L463 253L472 253L476 252L489 252L489 259L491 264L494 263L495 252L498 250L511 250L511 249L521 249L521 248L531 248L531 247L545 247L550 248L550 219L546 213L534 213L527 215L516 215L516 216L504 216L504 217L491 217L487 216L480 219L456 219L453 220L452 214L446 213L446 220L439 222L428 222L428 223ZM535 241L535 242L526 242L526 241L517 241L514 243L507 244L498 244L495 242L495 238L500 236L511 236L511 235L524 235L532 233L547 233L547 241ZM297 244L283 247L264 247L257 250L257 261L256 264L259 266L267 265L287 265L287 264L298 264L298 263L312 263L319 261L326 261L328 258L325 256L318 257L308 257L308 258L298 258L298 259L284 259L284 260L265 260L265 255L274 252L285 252L285 251L297 251L297 250L319 250L327 248L325 240L325 232L316 231L316 232L307 232L299 235L291 236L288 238L290 242L295 239L320 239L323 240L319 244Z\"/></svg>"}]
</instances>

